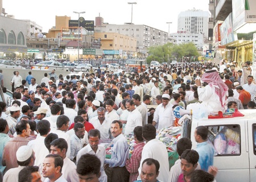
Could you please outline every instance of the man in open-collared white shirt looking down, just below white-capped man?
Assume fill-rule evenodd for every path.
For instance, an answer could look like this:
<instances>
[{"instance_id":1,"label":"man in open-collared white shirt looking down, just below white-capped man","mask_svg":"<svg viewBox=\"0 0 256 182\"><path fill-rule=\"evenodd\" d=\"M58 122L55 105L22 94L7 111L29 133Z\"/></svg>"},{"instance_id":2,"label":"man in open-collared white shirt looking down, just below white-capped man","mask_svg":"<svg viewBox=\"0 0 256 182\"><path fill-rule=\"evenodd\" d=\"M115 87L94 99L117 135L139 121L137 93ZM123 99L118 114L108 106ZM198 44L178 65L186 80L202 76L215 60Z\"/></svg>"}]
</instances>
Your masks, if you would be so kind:
<instances>
[{"instance_id":1,"label":"man in open-collared white shirt looking down, just below white-capped man","mask_svg":"<svg viewBox=\"0 0 256 182\"><path fill-rule=\"evenodd\" d=\"M101 139L109 139L111 121L109 121L105 117L105 109L103 107L98 108L97 112L98 112L98 116L93 117L90 120L90 123L93 125L95 129L100 130Z\"/></svg>"}]
</instances>

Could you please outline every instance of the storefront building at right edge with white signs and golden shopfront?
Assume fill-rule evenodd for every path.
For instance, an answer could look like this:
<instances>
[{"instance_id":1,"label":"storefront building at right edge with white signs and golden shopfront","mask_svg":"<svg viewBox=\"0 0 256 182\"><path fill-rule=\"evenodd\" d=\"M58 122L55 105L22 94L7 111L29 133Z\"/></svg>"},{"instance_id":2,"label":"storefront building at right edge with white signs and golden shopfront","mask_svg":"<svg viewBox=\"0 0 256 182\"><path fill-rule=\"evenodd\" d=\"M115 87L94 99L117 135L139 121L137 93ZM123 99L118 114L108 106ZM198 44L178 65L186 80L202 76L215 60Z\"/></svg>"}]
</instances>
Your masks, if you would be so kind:
<instances>
[{"instance_id":1,"label":"storefront building at right edge with white signs and golden shopfront","mask_svg":"<svg viewBox=\"0 0 256 182\"><path fill-rule=\"evenodd\" d=\"M256 1L209 0L209 10L216 23L213 29L216 64L222 59L237 61L239 65L253 61Z\"/></svg>"}]
</instances>

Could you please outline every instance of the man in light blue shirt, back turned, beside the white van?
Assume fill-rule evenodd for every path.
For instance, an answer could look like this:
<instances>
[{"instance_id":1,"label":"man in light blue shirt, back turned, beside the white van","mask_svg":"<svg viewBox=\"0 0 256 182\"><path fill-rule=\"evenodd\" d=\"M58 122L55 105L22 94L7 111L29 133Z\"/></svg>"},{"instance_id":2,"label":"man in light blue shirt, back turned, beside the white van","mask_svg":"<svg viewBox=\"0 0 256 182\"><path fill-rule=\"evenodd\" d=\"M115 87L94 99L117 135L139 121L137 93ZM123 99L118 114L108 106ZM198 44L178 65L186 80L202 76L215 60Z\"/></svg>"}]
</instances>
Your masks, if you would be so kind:
<instances>
[{"instance_id":1,"label":"man in light blue shirt, back turned, beside the white van","mask_svg":"<svg viewBox=\"0 0 256 182\"><path fill-rule=\"evenodd\" d=\"M208 171L209 166L213 165L214 149L207 141L208 128L197 126L195 130L195 139L198 143L196 151L199 154L199 164L201 170Z\"/></svg>"}]
</instances>

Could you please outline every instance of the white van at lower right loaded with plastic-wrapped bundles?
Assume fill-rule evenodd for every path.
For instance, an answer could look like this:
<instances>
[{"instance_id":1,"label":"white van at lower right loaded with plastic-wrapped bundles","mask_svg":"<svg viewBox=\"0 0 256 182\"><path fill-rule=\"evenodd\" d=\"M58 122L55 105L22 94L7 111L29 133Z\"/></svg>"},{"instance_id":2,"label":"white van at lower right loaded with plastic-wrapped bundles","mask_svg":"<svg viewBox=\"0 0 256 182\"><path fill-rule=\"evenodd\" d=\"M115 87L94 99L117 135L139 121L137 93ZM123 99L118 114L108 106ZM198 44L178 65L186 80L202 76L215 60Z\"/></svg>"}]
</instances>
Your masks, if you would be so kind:
<instances>
[{"instance_id":1,"label":"white van at lower right loaded with plastic-wrapped bundles","mask_svg":"<svg viewBox=\"0 0 256 182\"><path fill-rule=\"evenodd\" d=\"M197 120L192 118L192 149L196 149L197 126L207 126L208 138L218 154L213 166L218 168L216 181L256 181L256 109L240 110L243 117ZM221 137L226 140L221 140Z\"/></svg>"}]
</instances>

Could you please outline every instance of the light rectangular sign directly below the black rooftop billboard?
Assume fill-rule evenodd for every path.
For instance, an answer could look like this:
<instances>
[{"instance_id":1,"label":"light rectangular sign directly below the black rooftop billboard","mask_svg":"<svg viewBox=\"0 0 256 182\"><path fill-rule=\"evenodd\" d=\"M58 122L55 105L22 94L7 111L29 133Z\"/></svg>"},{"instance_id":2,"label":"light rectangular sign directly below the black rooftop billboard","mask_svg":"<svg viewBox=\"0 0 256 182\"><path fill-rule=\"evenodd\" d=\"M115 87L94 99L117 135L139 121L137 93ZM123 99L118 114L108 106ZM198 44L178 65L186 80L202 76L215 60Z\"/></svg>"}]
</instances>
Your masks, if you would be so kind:
<instances>
[{"instance_id":1,"label":"light rectangular sign directly below the black rooftop billboard","mask_svg":"<svg viewBox=\"0 0 256 182\"><path fill-rule=\"evenodd\" d=\"M81 28L62 28L61 35L62 40L82 40Z\"/></svg>"}]
</instances>

